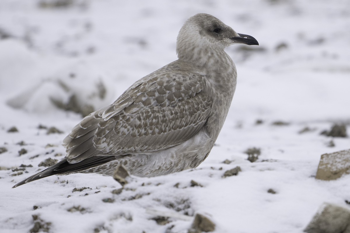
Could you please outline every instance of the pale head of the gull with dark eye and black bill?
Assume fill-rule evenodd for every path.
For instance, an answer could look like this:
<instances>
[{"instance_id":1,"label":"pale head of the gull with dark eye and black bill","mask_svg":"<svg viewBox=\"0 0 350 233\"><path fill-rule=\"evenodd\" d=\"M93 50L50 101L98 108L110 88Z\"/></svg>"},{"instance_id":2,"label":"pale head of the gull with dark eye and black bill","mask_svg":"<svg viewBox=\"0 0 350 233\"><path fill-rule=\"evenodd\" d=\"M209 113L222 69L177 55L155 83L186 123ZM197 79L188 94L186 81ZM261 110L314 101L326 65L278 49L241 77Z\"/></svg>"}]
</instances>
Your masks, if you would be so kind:
<instances>
[{"instance_id":1,"label":"pale head of the gull with dark eye and black bill","mask_svg":"<svg viewBox=\"0 0 350 233\"><path fill-rule=\"evenodd\" d=\"M216 17L201 13L183 24L177 36L176 52L181 59L199 51L202 55L203 52L223 51L235 43L259 45L254 37L239 34Z\"/></svg>"}]
</instances>

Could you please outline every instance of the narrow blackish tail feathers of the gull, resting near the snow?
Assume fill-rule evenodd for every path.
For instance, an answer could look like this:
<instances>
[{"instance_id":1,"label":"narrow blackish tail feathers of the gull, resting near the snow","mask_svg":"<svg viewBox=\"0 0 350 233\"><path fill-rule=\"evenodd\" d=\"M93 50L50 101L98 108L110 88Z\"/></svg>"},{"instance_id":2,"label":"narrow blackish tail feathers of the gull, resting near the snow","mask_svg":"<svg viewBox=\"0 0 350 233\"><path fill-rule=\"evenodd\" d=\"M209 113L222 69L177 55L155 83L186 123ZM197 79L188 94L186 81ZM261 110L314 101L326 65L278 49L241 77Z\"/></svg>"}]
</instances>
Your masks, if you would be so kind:
<instances>
[{"instance_id":1,"label":"narrow blackish tail feathers of the gull, resting near the snow","mask_svg":"<svg viewBox=\"0 0 350 233\"><path fill-rule=\"evenodd\" d=\"M78 173L82 172L83 170L97 167L99 165L102 165L106 162L110 162L116 159L116 156L93 156L91 158L84 159L81 162L78 163L69 163L67 161L67 158L64 158L63 160L59 161L55 165L52 165L51 167L38 172L27 179L19 182L18 184L14 185L12 188L16 188L22 184L29 183L31 181L39 180L44 177L52 176L52 175L67 175L71 173Z\"/></svg>"}]
</instances>

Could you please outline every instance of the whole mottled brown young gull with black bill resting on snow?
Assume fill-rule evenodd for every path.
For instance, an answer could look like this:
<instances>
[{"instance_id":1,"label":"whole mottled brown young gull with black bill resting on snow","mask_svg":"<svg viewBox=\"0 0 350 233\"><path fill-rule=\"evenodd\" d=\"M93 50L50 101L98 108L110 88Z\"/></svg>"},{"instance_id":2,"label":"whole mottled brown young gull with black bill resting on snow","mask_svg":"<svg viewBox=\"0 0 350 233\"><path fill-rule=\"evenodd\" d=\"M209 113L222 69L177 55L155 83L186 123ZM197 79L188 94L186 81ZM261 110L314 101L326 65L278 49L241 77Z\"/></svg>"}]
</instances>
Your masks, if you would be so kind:
<instances>
[{"instance_id":1,"label":"whole mottled brown young gull with black bill resting on snow","mask_svg":"<svg viewBox=\"0 0 350 233\"><path fill-rule=\"evenodd\" d=\"M86 116L63 140L63 160L14 187L55 174L112 176L119 165L148 177L197 167L214 146L235 93L236 67L224 51L234 43L258 45L212 15L190 17L177 36L178 60Z\"/></svg>"}]
</instances>

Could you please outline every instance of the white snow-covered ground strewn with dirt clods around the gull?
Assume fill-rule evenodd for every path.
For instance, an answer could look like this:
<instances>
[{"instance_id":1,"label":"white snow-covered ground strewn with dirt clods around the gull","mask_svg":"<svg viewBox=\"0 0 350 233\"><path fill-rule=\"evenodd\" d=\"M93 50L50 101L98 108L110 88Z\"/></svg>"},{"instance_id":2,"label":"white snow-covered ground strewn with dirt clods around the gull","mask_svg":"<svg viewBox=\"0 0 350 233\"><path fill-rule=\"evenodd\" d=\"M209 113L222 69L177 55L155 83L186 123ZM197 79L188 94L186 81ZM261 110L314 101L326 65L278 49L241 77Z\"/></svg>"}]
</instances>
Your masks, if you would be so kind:
<instances>
[{"instance_id":1,"label":"white snow-covered ground strewn with dirt clods around the gull","mask_svg":"<svg viewBox=\"0 0 350 233\"><path fill-rule=\"evenodd\" d=\"M64 157L62 139L82 116L57 106L86 113L112 103L176 59L177 32L201 12L260 43L226 50L238 84L207 160L134 178L120 194L98 174L11 189L40 162ZM323 202L349 207L349 175L314 178L321 154L350 148L349 137L320 135L334 123L349 135L349 29L348 0L1 0L0 232L33 232L36 222L53 233L184 233L195 213L210 216L215 232L301 232ZM244 153L252 147L261 150L253 163ZM236 166L237 176L222 177Z\"/></svg>"}]
</instances>

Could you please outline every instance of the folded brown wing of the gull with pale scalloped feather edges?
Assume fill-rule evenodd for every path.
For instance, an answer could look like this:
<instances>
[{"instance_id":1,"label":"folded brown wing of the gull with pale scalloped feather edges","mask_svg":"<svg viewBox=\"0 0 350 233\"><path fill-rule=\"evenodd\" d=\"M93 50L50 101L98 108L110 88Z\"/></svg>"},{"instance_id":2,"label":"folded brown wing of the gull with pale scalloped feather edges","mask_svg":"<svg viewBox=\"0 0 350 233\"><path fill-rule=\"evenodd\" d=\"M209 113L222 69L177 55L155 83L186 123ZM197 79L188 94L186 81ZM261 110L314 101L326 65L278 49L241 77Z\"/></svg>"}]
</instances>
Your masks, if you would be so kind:
<instances>
[{"instance_id":1,"label":"folded brown wing of the gull with pale scalloped feather edges","mask_svg":"<svg viewBox=\"0 0 350 233\"><path fill-rule=\"evenodd\" d=\"M212 106L203 75L163 67L93 112L64 139L68 162L147 154L179 145L204 126Z\"/></svg>"}]
</instances>

